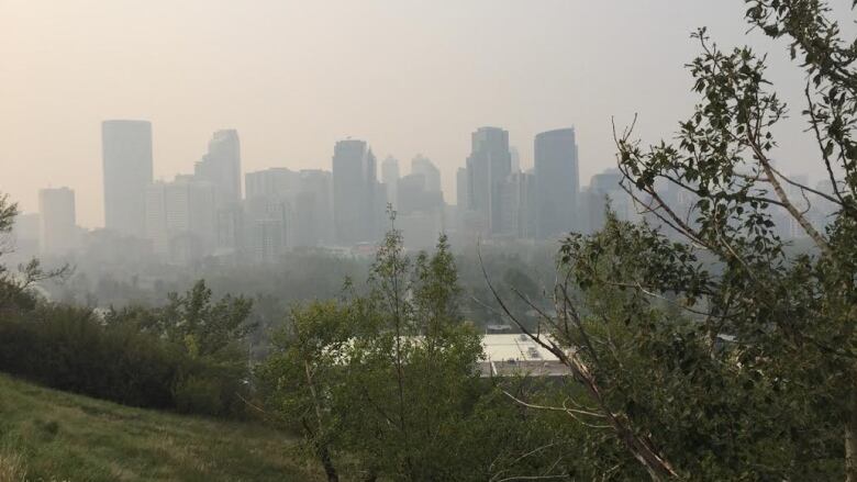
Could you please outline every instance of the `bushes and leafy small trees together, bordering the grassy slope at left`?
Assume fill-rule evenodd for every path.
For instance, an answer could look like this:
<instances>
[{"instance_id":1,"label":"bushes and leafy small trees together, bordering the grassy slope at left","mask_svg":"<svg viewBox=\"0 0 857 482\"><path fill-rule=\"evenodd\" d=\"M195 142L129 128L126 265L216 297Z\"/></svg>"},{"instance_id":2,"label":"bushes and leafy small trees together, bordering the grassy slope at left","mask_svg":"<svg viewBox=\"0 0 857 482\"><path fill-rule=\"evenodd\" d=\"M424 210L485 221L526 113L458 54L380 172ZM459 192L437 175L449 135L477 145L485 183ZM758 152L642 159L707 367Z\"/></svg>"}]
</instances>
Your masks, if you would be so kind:
<instances>
[{"instance_id":1,"label":"bushes and leafy small trees together, bordering the grassy slope at left","mask_svg":"<svg viewBox=\"0 0 857 482\"><path fill-rule=\"evenodd\" d=\"M0 316L0 371L126 405L243 416L251 303L212 301L203 282L162 307L98 314L18 292Z\"/></svg>"}]
</instances>

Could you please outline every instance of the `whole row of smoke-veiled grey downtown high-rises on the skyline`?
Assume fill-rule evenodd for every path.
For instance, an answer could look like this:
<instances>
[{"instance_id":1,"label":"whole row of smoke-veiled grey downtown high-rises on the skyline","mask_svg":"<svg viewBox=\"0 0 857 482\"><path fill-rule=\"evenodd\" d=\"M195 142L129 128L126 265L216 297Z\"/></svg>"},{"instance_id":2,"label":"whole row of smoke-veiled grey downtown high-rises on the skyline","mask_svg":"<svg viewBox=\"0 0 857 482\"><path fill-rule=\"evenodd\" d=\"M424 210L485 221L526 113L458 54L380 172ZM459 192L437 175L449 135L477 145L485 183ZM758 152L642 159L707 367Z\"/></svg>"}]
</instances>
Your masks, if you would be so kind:
<instances>
[{"instance_id":1,"label":"whole row of smoke-veiled grey downtown high-rises on the skyline","mask_svg":"<svg viewBox=\"0 0 857 482\"><path fill-rule=\"evenodd\" d=\"M104 121L101 134L104 228L76 225L71 189L43 189L40 213L19 216L19 249L57 257L89 250L171 265L267 264L300 248L370 254L391 223L407 248L427 248L439 233L458 245L589 233L603 225L608 204L621 220L641 218L617 170L593 176L581 189L574 128L537 134L526 170L507 131L476 130L456 171L454 205L445 201L431 159L414 156L403 175L398 159L378 162L365 141L337 142L331 170L275 167L243 175L238 133L223 130L213 133L192 173L156 181L149 122ZM663 198L679 211L692 205L669 187ZM802 235L788 216L781 224L783 236Z\"/></svg>"}]
</instances>

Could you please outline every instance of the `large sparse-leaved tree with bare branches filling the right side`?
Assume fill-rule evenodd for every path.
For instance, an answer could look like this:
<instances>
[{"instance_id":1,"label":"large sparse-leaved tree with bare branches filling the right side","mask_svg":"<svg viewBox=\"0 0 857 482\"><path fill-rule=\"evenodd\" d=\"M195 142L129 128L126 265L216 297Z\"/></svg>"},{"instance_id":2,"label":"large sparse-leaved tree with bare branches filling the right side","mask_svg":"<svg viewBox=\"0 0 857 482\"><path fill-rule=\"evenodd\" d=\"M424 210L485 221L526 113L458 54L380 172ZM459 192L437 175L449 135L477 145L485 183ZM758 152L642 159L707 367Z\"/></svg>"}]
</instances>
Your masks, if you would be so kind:
<instances>
[{"instance_id":1,"label":"large sparse-leaved tree with bare branches filling the right side","mask_svg":"<svg viewBox=\"0 0 857 482\"><path fill-rule=\"evenodd\" d=\"M801 57L802 115L830 189L772 161L786 105L765 58L700 30L689 69L701 99L677 139L644 146L633 125L616 135L621 186L648 221L570 236L557 315L543 314L553 338L531 336L587 388L586 410L569 415L601 421L653 480L854 481L857 51L823 1L748 5L752 25ZM835 208L830 225L812 202ZM789 248L782 215L813 250Z\"/></svg>"}]
</instances>

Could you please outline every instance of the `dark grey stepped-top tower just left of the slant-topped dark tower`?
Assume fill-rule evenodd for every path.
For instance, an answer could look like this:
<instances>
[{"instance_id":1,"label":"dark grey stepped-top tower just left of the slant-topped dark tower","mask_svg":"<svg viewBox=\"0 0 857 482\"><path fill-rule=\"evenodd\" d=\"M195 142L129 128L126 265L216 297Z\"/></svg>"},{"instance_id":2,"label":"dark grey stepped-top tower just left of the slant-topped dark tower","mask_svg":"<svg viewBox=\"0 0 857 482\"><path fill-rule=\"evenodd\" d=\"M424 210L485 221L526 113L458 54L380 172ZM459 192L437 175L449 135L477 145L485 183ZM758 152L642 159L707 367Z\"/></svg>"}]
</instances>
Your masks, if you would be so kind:
<instances>
[{"instance_id":1,"label":"dark grey stepped-top tower just left of the slant-topped dark tower","mask_svg":"<svg viewBox=\"0 0 857 482\"><path fill-rule=\"evenodd\" d=\"M500 228L500 210L496 201L500 183L512 171L509 133L498 127L479 127L470 136L467 158L468 208L481 217L488 233Z\"/></svg>"}]
</instances>

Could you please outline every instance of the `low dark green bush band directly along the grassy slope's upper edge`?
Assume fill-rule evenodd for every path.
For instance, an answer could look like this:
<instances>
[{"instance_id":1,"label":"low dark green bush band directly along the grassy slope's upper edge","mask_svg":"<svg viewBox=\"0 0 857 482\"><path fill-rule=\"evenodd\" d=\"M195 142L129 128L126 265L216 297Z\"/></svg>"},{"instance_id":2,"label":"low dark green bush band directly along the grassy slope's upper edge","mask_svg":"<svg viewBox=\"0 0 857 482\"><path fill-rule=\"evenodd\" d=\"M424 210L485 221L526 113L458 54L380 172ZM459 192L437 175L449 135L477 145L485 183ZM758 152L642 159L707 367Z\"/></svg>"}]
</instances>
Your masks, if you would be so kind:
<instances>
[{"instance_id":1,"label":"low dark green bush band directly along the grassy slope's upper edge","mask_svg":"<svg viewBox=\"0 0 857 482\"><path fill-rule=\"evenodd\" d=\"M0 371L125 405L241 416L244 367L194 358L131 320L103 323L86 309L0 317Z\"/></svg>"}]
</instances>

